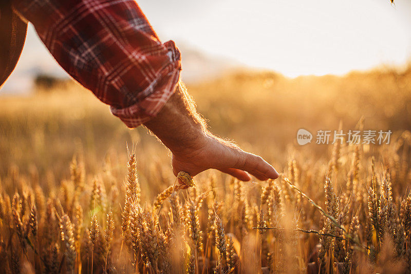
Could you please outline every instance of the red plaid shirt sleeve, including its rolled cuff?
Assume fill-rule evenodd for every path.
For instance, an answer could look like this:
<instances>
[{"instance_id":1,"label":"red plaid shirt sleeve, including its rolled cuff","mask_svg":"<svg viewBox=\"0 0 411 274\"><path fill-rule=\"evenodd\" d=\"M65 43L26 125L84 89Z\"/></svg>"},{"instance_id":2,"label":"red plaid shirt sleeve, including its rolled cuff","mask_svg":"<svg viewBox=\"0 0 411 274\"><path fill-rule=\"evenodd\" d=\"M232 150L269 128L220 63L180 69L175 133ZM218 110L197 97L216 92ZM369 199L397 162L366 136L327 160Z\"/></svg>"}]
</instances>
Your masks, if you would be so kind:
<instances>
[{"instance_id":1,"label":"red plaid shirt sleeve, including its rolled cuff","mask_svg":"<svg viewBox=\"0 0 411 274\"><path fill-rule=\"evenodd\" d=\"M161 43L133 0L13 0L57 62L128 127L174 93L180 52Z\"/></svg>"}]
</instances>

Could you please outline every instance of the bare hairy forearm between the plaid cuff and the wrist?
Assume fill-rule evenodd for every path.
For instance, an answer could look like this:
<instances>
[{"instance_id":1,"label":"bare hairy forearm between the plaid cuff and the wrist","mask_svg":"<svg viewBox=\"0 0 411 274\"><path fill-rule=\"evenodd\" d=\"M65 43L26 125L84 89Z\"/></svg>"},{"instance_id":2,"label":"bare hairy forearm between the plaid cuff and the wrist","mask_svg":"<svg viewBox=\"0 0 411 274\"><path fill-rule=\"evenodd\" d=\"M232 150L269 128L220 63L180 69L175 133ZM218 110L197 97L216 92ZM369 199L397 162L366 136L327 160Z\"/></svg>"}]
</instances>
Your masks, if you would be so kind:
<instances>
[{"instance_id":1,"label":"bare hairy forearm between the plaid cuff and the wrist","mask_svg":"<svg viewBox=\"0 0 411 274\"><path fill-rule=\"evenodd\" d=\"M181 81L157 116L144 125L173 153L195 149L193 146L199 145L199 139L209 136L206 122L197 113L195 103Z\"/></svg>"}]
</instances>

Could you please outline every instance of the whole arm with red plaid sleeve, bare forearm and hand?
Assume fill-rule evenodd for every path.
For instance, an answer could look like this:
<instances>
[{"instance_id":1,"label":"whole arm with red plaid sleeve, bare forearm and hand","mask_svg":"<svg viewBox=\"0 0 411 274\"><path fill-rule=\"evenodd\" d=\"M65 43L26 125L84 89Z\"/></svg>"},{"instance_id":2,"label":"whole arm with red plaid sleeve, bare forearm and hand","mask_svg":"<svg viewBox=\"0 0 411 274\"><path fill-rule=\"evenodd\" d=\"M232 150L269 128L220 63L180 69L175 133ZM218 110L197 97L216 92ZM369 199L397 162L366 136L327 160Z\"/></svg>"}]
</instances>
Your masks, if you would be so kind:
<instances>
[{"instance_id":1,"label":"whole arm with red plaid sleeve, bare forearm and hand","mask_svg":"<svg viewBox=\"0 0 411 274\"><path fill-rule=\"evenodd\" d=\"M241 180L277 172L260 157L206 130L179 85L180 53L162 44L133 0L12 0L55 60L128 127L145 124L173 153L173 171L214 168ZM154 118L153 118L154 117Z\"/></svg>"}]
</instances>

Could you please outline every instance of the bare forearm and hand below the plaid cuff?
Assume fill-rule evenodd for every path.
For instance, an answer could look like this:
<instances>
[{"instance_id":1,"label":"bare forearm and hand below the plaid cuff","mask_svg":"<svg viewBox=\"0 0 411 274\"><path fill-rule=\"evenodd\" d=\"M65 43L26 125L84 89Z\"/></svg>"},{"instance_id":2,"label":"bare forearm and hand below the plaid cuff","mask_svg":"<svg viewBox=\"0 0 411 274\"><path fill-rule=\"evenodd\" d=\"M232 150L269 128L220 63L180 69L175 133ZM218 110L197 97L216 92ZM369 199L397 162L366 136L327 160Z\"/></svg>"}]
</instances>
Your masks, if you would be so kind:
<instances>
[{"instance_id":1,"label":"bare forearm and hand below the plaid cuff","mask_svg":"<svg viewBox=\"0 0 411 274\"><path fill-rule=\"evenodd\" d=\"M144 125L172 152L175 175L185 171L194 176L207 169L217 169L243 181L250 180L247 172L260 180L278 177L261 157L207 131L181 82L158 115Z\"/></svg>"}]
</instances>

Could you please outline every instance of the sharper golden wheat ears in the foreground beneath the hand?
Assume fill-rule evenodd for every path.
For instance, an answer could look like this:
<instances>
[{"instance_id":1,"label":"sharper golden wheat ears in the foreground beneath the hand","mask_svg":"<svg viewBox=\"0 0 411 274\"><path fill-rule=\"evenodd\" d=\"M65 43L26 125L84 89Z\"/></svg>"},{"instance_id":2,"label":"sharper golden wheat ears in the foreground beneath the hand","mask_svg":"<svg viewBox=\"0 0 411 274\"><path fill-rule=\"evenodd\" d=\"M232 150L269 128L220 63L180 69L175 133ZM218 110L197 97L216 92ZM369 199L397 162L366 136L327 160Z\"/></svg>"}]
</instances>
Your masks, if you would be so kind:
<instances>
[{"instance_id":1,"label":"sharper golden wheat ears in the foreground beneath the hand","mask_svg":"<svg viewBox=\"0 0 411 274\"><path fill-rule=\"evenodd\" d=\"M13 173L0 196L2 271L373 273L395 262L389 272L404 273L410 148L404 132L376 165L349 144L333 150L327 175L295 155L288 178L257 184L211 174L189 190L166 187L153 203L140 199L134 154L125 185L110 165L99 184L77 181L85 176L75 158L71 179L48 193Z\"/></svg>"}]
</instances>

